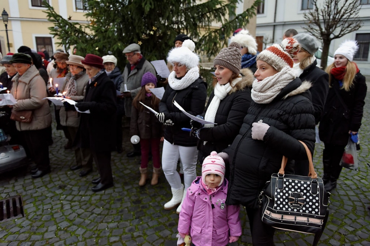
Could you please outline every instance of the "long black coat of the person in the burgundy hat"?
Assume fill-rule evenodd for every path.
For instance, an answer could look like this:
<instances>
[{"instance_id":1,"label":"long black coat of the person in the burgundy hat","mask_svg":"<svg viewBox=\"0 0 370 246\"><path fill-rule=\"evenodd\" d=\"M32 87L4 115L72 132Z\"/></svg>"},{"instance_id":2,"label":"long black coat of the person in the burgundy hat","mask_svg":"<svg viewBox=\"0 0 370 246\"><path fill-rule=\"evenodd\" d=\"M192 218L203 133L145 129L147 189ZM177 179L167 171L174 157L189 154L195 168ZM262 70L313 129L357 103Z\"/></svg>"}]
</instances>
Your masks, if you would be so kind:
<instances>
[{"instance_id":1,"label":"long black coat of the person in the burgundy hat","mask_svg":"<svg viewBox=\"0 0 370 246\"><path fill-rule=\"evenodd\" d=\"M93 152L115 149L116 92L104 72L86 86L83 101L90 102L90 114L81 113L76 136L77 146Z\"/></svg>"}]
</instances>

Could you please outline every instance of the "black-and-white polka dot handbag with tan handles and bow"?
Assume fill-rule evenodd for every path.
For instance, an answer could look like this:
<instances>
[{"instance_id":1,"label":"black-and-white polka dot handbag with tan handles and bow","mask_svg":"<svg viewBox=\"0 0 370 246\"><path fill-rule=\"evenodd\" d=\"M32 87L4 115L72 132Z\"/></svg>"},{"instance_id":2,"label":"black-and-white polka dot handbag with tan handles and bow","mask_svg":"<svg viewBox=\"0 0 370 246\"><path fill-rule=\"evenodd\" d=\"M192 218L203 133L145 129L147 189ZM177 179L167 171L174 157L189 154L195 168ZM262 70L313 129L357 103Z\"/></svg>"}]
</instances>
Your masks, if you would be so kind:
<instances>
[{"instance_id":1,"label":"black-and-white polka dot handbag with tan handles and bow","mask_svg":"<svg viewBox=\"0 0 370 246\"><path fill-rule=\"evenodd\" d=\"M311 152L299 142L307 152L309 175L284 174L288 158L283 156L279 173L271 175L259 195L262 221L278 229L315 234L318 242L329 215L330 193L324 190L323 180L317 177Z\"/></svg>"}]
</instances>

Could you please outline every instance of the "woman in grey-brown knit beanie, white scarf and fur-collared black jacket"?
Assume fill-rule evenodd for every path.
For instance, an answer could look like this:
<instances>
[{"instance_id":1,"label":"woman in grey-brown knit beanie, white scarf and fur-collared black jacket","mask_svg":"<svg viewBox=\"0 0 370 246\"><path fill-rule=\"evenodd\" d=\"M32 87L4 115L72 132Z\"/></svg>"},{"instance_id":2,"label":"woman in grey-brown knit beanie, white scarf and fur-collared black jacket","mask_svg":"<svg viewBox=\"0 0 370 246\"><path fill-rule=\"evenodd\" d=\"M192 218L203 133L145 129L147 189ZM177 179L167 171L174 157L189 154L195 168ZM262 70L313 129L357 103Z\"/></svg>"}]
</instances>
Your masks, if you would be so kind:
<instances>
[{"instance_id":1,"label":"woman in grey-brown knit beanie, white scarf and fur-collared black jacket","mask_svg":"<svg viewBox=\"0 0 370 246\"><path fill-rule=\"evenodd\" d=\"M221 50L213 62L216 68L215 89L201 118L217 124L206 124L200 128L203 125L190 121L192 133L199 139L200 163L212 151L220 153L234 141L252 102L249 86L252 86L254 75L248 68L244 68L241 75L240 61L239 45L231 43L228 48ZM226 165L226 177L228 171Z\"/></svg>"}]
</instances>

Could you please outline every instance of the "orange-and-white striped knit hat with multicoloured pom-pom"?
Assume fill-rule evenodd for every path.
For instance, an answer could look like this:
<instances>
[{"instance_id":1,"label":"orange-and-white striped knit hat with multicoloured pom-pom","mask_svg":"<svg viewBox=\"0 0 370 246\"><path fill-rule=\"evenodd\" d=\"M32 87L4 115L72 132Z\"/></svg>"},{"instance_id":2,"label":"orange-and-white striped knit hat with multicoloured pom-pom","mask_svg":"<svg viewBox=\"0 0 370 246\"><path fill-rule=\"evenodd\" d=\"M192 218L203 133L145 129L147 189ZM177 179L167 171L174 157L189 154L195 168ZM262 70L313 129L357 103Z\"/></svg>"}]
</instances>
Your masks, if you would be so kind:
<instances>
[{"instance_id":1,"label":"orange-and-white striped knit hat with multicoloured pom-pom","mask_svg":"<svg viewBox=\"0 0 370 246\"><path fill-rule=\"evenodd\" d=\"M300 44L295 38L288 37L281 44L273 44L257 56L256 61L266 62L278 72L285 66L293 67L293 57L300 49Z\"/></svg>"}]
</instances>

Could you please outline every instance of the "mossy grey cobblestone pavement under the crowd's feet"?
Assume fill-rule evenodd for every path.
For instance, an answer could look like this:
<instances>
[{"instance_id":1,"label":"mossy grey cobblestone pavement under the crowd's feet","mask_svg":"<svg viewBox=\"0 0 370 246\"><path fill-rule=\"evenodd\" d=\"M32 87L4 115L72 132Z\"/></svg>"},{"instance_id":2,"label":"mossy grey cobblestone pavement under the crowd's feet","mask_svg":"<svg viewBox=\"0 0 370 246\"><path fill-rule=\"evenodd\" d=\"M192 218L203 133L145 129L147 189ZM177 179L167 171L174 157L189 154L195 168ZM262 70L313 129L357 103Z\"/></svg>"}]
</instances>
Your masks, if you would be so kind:
<instances>
[{"instance_id":1,"label":"mossy grey cobblestone pavement under the crowd's feet","mask_svg":"<svg viewBox=\"0 0 370 246\"><path fill-rule=\"evenodd\" d=\"M126 157L131 144L127 128L124 133L125 151L112 153L114 187L103 192L91 191L91 180L98 176L96 168L84 178L78 177L79 170L70 171L74 155L64 150L62 131L53 131L49 175L34 180L30 167L1 175L1 199L21 195L25 216L0 222L0 246L176 245L178 215L175 210L163 209L171 198L170 186L164 175L156 186L138 186L140 158ZM359 171L343 169L331 197L331 215L320 245L370 246L369 93L360 134ZM314 163L319 176L323 173L322 151L323 144L317 144ZM244 209L240 217L243 235L231 245L252 245ZM276 246L305 246L312 240L312 235L296 232L275 234Z\"/></svg>"}]
</instances>

